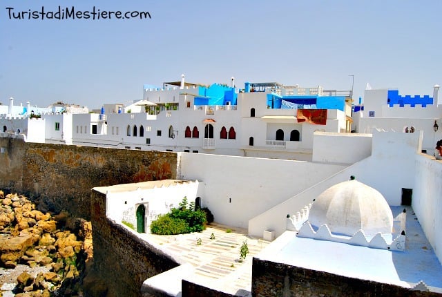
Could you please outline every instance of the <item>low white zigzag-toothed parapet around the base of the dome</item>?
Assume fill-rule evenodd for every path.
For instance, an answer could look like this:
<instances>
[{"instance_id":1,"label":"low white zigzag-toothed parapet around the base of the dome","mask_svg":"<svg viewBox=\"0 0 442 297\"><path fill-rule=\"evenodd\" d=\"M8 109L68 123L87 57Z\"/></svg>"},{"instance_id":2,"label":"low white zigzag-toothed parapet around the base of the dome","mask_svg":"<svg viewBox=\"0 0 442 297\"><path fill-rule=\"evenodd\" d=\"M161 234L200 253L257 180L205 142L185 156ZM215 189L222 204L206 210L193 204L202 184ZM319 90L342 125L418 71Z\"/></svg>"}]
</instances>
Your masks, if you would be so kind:
<instances>
[{"instance_id":1,"label":"low white zigzag-toothed parapet around the base of the dome","mask_svg":"<svg viewBox=\"0 0 442 297\"><path fill-rule=\"evenodd\" d=\"M377 233L373 238L367 238L362 230L354 233L353 236L337 236L330 232L327 224L314 231L310 222L305 222L299 229L298 236L304 238L313 238L317 240L327 240L333 242L347 243L349 245L361 245L363 247L372 247L374 249L389 249L394 251L405 251L405 235L398 235L393 240L389 240L390 234Z\"/></svg>"}]
</instances>

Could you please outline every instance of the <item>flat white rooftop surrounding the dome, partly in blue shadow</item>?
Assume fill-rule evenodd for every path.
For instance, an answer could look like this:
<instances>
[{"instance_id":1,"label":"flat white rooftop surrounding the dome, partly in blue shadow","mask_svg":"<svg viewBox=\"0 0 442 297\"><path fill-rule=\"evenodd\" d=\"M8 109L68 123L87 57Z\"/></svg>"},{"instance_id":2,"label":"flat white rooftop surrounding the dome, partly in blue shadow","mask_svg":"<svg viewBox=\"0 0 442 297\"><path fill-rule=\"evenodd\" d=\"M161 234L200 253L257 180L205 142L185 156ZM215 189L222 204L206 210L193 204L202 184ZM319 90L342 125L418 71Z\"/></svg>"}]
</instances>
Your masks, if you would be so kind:
<instances>
[{"instance_id":1,"label":"flat white rooftop surrounding the dome, partly in blue shadow","mask_svg":"<svg viewBox=\"0 0 442 297\"><path fill-rule=\"evenodd\" d=\"M256 258L339 276L415 287L421 280L442 293L442 266L411 207L391 207L393 217L407 209L405 251L373 249L300 238L285 231Z\"/></svg>"}]
</instances>

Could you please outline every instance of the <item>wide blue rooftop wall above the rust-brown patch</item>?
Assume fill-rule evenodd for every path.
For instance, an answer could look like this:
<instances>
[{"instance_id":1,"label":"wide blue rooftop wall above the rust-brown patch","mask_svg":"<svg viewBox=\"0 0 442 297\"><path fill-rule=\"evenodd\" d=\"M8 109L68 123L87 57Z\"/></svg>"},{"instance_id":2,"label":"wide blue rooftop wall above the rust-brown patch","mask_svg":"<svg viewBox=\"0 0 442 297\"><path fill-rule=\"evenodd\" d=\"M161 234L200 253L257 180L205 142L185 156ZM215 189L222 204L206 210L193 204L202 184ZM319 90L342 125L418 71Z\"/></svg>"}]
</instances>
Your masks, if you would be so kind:
<instances>
[{"instance_id":1,"label":"wide blue rooftop wall above the rust-brown patch","mask_svg":"<svg viewBox=\"0 0 442 297\"><path fill-rule=\"evenodd\" d=\"M338 109L340 111L345 111L345 96L280 96L273 93L267 94L267 106L269 106L269 108L290 108L287 107L287 104L283 104L282 101L289 102L295 106L298 104L301 108Z\"/></svg>"}]
</instances>

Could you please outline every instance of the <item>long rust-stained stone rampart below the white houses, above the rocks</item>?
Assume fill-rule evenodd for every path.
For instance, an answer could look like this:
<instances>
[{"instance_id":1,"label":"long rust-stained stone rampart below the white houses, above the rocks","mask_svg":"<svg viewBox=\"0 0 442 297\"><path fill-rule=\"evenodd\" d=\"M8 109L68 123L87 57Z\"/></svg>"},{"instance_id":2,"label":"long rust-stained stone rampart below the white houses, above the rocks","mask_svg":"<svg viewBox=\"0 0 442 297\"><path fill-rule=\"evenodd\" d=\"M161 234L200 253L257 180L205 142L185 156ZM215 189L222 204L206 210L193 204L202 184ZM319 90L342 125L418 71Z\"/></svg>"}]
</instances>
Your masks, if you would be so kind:
<instances>
[{"instance_id":1,"label":"long rust-stained stone rampart below the white houses, above the rocks","mask_svg":"<svg viewBox=\"0 0 442 297\"><path fill-rule=\"evenodd\" d=\"M24 143L0 137L0 187L23 193L37 207L90 218L95 186L175 179L176 153Z\"/></svg>"}]
</instances>

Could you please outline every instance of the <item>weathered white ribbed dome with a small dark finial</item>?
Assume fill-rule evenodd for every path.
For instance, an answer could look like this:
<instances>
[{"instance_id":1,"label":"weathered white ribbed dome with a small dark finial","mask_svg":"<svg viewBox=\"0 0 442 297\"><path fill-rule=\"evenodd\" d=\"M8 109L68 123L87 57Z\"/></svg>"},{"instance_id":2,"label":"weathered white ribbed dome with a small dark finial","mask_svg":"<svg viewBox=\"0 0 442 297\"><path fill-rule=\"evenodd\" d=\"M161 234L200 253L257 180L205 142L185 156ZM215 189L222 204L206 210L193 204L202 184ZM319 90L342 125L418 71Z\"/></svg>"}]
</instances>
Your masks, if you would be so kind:
<instances>
[{"instance_id":1,"label":"weathered white ribbed dome with a small dark finial","mask_svg":"<svg viewBox=\"0 0 442 297\"><path fill-rule=\"evenodd\" d=\"M323 191L312 204L309 222L314 228L327 224L332 233L366 236L392 233L393 214L381 193L370 186L349 180Z\"/></svg>"}]
</instances>

